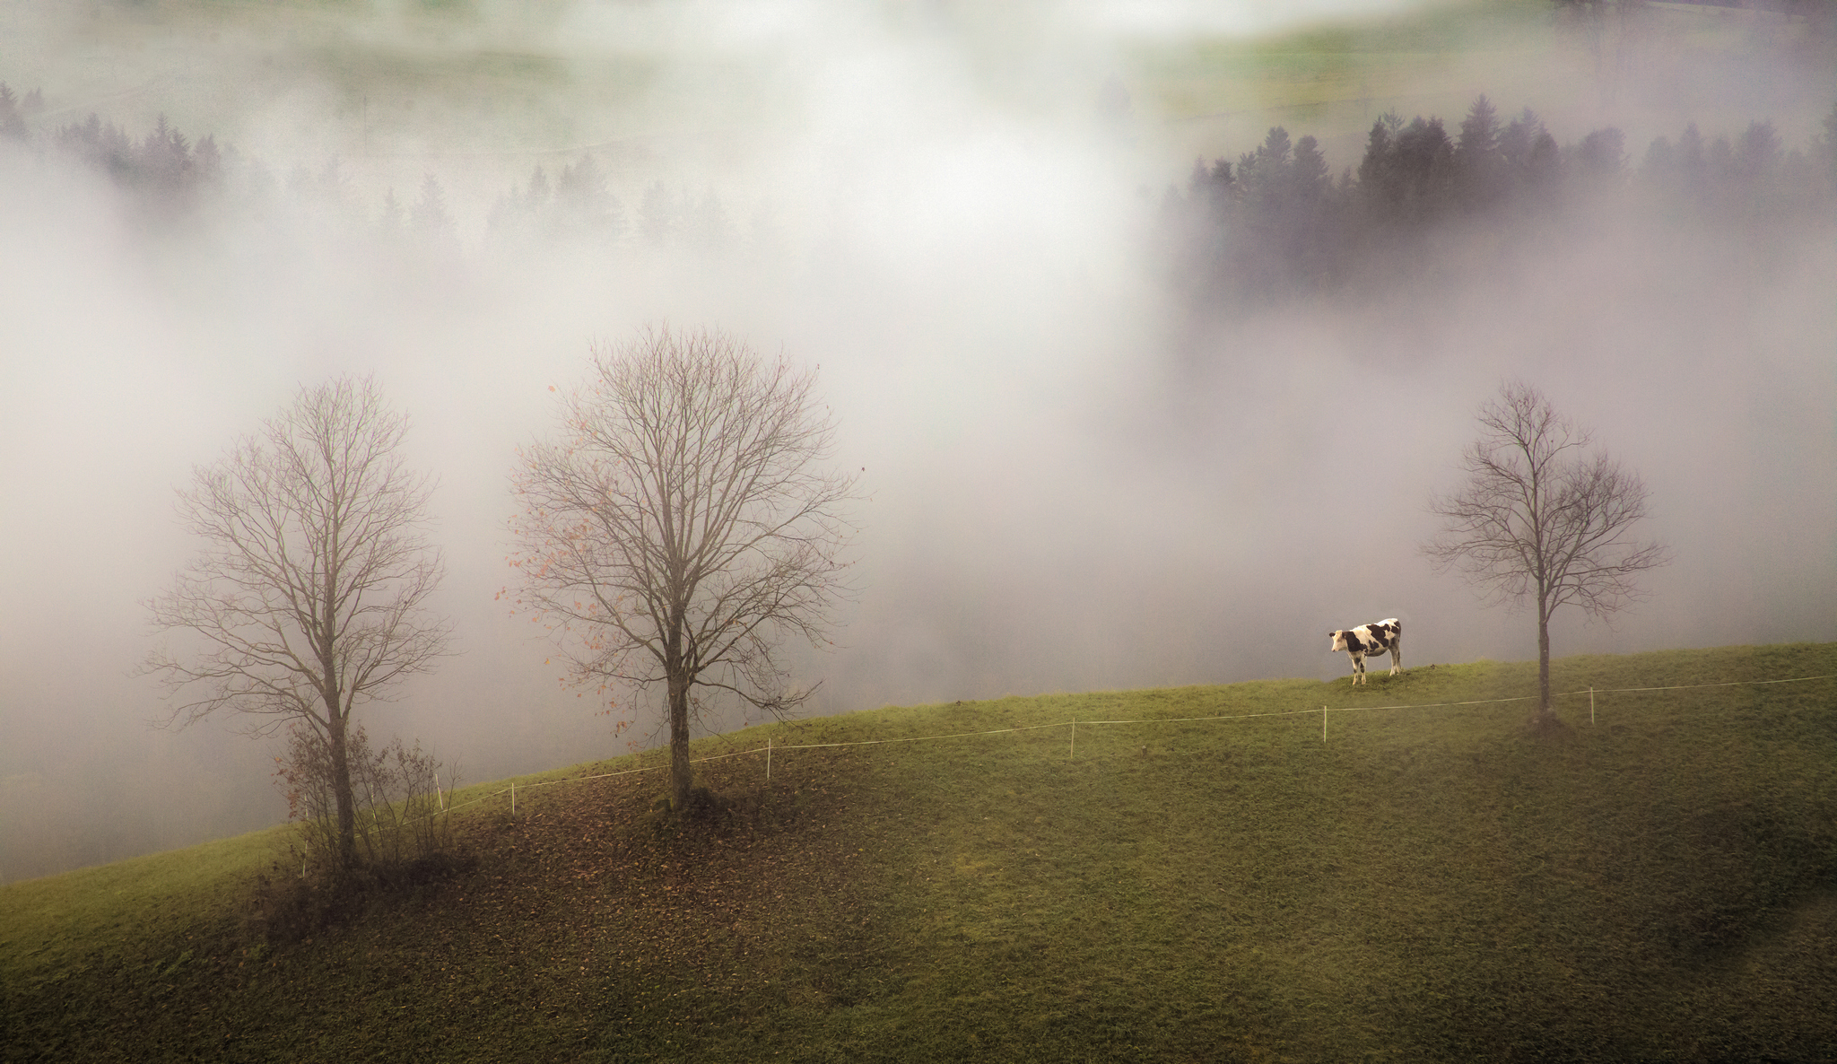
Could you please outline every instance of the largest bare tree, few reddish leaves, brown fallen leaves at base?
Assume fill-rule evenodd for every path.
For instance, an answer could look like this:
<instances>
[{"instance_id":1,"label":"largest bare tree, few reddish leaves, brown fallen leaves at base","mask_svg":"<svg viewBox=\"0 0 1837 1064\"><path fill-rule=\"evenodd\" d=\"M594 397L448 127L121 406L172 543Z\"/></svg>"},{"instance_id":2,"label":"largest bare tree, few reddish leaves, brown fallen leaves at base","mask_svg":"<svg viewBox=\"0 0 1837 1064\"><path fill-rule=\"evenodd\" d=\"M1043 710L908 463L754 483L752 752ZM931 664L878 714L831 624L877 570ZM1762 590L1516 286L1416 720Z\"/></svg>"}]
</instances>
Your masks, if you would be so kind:
<instances>
[{"instance_id":1,"label":"largest bare tree, few reddish leaves, brown fallen leaves at base","mask_svg":"<svg viewBox=\"0 0 1837 1064\"><path fill-rule=\"evenodd\" d=\"M522 450L518 603L573 647L579 684L665 689L671 796L685 809L696 687L784 715L775 647L827 641L845 594L854 478L823 470L834 426L816 373L707 331L593 347L560 439Z\"/></svg>"}]
</instances>

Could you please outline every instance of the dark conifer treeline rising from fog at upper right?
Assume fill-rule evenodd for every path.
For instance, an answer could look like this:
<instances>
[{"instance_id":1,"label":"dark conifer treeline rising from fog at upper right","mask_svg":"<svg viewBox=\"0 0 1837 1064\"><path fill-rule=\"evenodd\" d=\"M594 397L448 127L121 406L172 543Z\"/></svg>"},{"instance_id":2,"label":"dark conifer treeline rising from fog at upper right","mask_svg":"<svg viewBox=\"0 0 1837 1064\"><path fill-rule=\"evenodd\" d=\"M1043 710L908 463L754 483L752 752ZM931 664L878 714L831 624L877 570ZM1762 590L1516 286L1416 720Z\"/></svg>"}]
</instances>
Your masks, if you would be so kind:
<instances>
[{"instance_id":1,"label":"dark conifer treeline rising from fog at upper right","mask_svg":"<svg viewBox=\"0 0 1837 1064\"><path fill-rule=\"evenodd\" d=\"M1275 127L1234 164L1196 162L1185 189L1166 189L1159 224L1174 281L1233 305L1409 277L1427 237L1462 228L1510 237L1606 206L1765 233L1828 219L1833 202L1837 107L1804 151L1787 151L1771 121L1734 138L1692 123L1635 164L1618 129L1560 147L1530 108L1501 119L1481 96L1453 136L1440 118L1385 114L1337 180L1315 138Z\"/></svg>"}]
</instances>

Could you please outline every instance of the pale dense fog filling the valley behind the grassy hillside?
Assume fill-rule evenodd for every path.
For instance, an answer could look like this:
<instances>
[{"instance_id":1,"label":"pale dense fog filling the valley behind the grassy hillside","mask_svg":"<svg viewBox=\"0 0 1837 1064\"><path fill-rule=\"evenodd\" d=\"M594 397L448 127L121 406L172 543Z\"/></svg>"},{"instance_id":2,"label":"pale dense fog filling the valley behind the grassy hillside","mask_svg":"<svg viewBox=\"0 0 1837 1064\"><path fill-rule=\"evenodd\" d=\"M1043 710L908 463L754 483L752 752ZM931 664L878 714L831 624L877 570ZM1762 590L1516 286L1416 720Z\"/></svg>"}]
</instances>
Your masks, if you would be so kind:
<instances>
[{"instance_id":1,"label":"pale dense fog filling the valley behind the grassy hillside","mask_svg":"<svg viewBox=\"0 0 1837 1064\"><path fill-rule=\"evenodd\" d=\"M1762 239L1582 198L1440 228L1389 283L1233 300L1166 230L1196 158L1282 125L1356 182L1378 116L1453 130L1482 92L1565 149L1622 130L1628 182L1688 123L1771 121L1815 158L1830 35L1686 6L1607 28L1631 42L1541 6L1442 13L1405 77L1347 40L1438 9L1282 9L0 0L22 118L0 136L0 880L285 816L277 741L151 730L165 704L132 669L143 603L198 546L175 489L340 373L413 421L456 628L360 713L371 735L465 781L656 737L632 696L615 739L494 597L514 448L592 342L652 322L821 368L865 502L838 645L797 656L816 713L1334 678L1326 632L1391 616L1411 667L1532 658L1532 616L1416 549L1506 377L1646 480L1646 533L1675 548L1611 627L1560 614L1556 654L1837 640L1833 200ZM1260 70L1312 72L1317 103L1268 105ZM108 127L178 130L193 160L209 138L217 176L123 180L85 154Z\"/></svg>"}]
</instances>

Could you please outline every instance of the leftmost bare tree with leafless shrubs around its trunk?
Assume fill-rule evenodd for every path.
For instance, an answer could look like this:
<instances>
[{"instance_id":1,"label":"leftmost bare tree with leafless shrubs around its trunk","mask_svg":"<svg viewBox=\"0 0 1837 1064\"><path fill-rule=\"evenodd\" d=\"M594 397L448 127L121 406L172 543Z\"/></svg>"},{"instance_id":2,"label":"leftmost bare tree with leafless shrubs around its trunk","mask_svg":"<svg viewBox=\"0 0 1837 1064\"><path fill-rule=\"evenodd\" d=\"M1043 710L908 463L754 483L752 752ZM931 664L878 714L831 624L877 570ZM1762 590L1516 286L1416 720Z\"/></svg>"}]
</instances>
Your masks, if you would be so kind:
<instances>
[{"instance_id":1,"label":"leftmost bare tree with leafless shrubs around its trunk","mask_svg":"<svg viewBox=\"0 0 1837 1064\"><path fill-rule=\"evenodd\" d=\"M432 485L402 465L406 430L369 379L301 388L178 492L204 549L147 603L156 630L191 643L141 667L182 698L167 724L230 709L274 717L255 733L298 720L323 737L342 867L355 853L351 715L430 671L450 632L426 610L441 555L421 533Z\"/></svg>"}]
</instances>

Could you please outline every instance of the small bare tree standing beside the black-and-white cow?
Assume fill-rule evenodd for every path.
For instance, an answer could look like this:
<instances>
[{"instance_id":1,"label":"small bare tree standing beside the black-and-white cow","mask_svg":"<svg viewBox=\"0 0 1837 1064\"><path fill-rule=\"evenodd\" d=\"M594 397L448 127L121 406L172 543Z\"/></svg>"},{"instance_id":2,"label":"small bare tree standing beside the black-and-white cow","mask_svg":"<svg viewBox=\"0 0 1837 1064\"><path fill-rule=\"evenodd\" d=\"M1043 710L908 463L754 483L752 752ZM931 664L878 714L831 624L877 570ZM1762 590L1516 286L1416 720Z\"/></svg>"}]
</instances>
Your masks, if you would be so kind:
<instances>
[{"instance_id":1,"label":"small bare tree standing beside the black-and-white cow","mask_svg":"<svg viewBox=\"0 0 1837 1064\"><path fill-rule=\"evenodd\" d=\"M1442 531L1422 546L1437 572L1455 570L1492 603L1538 606L1538 715L1550 704L1550 614L1578 605L1609 617L1640 597L1635 577L1670 562L1670 549L1635 540L1646 485L1561 417L1530 384L1514 380L1479 413L1484 434L1462 450L1468 481L1431 496Z\"/></svg>"}]
</instances>

